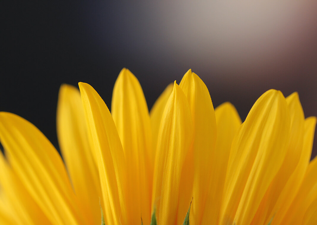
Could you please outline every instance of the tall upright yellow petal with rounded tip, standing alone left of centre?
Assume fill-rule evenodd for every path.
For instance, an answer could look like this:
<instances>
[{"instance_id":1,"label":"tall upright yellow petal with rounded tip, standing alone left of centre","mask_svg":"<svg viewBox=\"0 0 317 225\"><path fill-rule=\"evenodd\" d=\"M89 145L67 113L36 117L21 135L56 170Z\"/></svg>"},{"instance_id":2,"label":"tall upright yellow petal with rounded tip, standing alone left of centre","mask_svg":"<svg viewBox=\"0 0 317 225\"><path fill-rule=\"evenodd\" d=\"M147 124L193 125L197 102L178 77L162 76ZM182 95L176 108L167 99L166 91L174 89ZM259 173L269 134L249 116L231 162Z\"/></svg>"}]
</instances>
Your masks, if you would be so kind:
<instances>
[{"instance_id":1,"label":"tall upright yellow petal with rounded tip, standing alone left of centre","mask_svg":"<svg viewBox=\"0 0 317 225\"><path fill-rule=\"evenodd\" d=\"M127 216L130 224L150 224L154 151L149 111L137 78L122 69L114 84L111 114L126 159Z\"/></svg>"}]
</instances>

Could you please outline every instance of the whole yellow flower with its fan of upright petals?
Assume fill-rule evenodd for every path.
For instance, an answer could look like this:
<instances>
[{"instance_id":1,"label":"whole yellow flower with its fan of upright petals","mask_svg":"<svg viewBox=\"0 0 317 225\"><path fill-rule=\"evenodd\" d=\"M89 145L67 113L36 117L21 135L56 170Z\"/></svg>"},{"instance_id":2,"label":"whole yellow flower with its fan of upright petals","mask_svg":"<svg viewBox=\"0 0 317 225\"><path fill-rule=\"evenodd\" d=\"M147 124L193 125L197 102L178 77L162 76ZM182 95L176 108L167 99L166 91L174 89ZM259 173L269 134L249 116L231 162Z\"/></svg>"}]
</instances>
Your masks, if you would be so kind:
<instances>
[{"instance_id":1,"label":"whole yellow flower with its fan of upright petals","mask_svg":"<svg viewBox=\"0 0 317 225\"><path fill-rule=\"evenodd\" d=\"M87 83L62 85L57 133L64 162L31 123L0 113L0 224L317 224L315 117L297 93L265 92L242 123L215 110L189 70L148 112L123 69L111 113ZM67 169L66 169L67 168ZM190 203L191 208L188 211ZM188 217L186 217L188 219Z\"/></svg>"}]
</instances>

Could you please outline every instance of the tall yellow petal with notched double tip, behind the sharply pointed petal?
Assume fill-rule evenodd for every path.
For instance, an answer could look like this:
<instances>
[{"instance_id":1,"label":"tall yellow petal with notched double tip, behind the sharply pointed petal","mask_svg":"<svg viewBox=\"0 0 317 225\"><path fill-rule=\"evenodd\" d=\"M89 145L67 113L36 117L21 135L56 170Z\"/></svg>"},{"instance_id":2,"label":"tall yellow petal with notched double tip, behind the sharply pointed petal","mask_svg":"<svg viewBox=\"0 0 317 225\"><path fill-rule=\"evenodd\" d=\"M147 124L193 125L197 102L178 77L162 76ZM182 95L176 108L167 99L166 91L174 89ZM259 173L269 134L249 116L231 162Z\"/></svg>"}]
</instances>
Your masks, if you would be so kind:
<instances>
[{"instance_id":1,"label":"tall yellow petal with notched double tip, behind the sharply pointed petal","mask_svg":"<svg viewBox=\"0 0 317 225\"><path fill-rule=\"evenodd\" d=\"M186 183L193 182L193 203L191 206L191 223L212 224L217 221L217 206L208 204L207 201L214 202L219 197L215 192L216 186L211 185L216 173L213 173L213 167L217 159L215 158L216 145L216 118L209 91L204 82L191 70L184 75L179 86L184 91L191 108L193 118L193 151L194 177L193 181L187 180ZM186 167L185 165L184 167ZM186 178L186 176L184 176ZM209 199L207 199L207 194ZM187 200L191 195L180 196ZM180 205L183 203L179 203ZM185 204L185 203L184 203ZM185 204L186 207L188 204ZM178 215L186 214L186 211L178 210ZM179 221L180 222L180 221Z\"/></svg>"}]
</instances>

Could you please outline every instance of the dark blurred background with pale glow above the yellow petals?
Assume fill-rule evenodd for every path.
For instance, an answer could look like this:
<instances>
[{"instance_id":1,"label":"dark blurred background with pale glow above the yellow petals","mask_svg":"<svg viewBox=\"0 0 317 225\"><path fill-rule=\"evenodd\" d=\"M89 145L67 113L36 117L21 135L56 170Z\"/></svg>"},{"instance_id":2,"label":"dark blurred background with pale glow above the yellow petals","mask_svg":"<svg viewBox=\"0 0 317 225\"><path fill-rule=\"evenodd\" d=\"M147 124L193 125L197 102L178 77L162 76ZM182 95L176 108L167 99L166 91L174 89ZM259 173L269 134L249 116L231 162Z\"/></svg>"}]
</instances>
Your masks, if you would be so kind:
<instances>
[{"instance_id":1,"label":"dark blurred background with pale glow above the yellow petals","mask_svg":"<svg viewBox=\"0 0 317 225\"><path fill-rule=\"evenodd\" d=\"M123 67L149 108L192 69L214 106L230 101L243 120L270 88L299 92L305 117L317 116L316 1L47 1L1 11L0 111L28 119L56 147L60 85L87 82L110 106Z\"/></svg>"}]
</instances>

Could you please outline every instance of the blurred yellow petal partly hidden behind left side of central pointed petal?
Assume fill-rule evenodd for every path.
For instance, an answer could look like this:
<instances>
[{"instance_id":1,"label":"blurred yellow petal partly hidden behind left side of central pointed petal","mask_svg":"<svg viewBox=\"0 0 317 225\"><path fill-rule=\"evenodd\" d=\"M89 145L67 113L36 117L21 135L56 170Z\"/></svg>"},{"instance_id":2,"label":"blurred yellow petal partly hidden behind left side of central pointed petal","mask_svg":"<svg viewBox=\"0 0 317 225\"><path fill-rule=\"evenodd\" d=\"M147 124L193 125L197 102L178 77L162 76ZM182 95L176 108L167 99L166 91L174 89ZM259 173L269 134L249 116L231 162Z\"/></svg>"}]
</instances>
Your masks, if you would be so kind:
<instances>
[{"instance_id":1,"label":"blurred yellow petal partly hidden behind left side of central pointed petal","mask_svg":"<svg viewBox=\"0 0 317 225\"><path fill-rule=\"evenodd\" d=\"M165 109L166 102L172 93L172 90L173 90L173 84L169 84L165 88L163 93L159 96L159 98L155 101L150 112L151 127L152 127L152 145L153 145L154 151L156 150L156 146L157 146L159 126L161 124L162 115Z\"/></svg>"}]
</instances>

